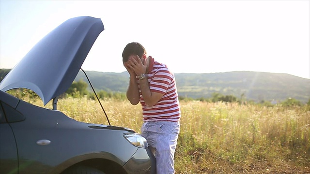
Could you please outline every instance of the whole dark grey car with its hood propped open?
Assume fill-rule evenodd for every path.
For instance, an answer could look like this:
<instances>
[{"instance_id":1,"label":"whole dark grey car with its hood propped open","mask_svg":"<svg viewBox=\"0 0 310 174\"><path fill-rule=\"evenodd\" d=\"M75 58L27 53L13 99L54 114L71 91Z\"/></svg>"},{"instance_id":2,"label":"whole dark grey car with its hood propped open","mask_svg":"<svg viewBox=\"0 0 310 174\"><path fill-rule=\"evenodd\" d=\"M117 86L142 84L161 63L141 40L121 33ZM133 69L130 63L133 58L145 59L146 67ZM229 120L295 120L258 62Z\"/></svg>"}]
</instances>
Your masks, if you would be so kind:
<instances>
[{"instance_id":1,"label":"whole dark grey car with its hood propped open","mask_svg":"<svg viewBox=\"0 0 310 174\"><path fill-rule=\"evenodd\" d=\"M155 157L137 132L80 122L57 110L60 95L74 81L103 30L100 18L68 19L35 44L3 78L1 174L155 173ZM33 105L8 93L16 88L35 92L44 105L52 101L52 108Z\"/></svg>"}]
</instances>

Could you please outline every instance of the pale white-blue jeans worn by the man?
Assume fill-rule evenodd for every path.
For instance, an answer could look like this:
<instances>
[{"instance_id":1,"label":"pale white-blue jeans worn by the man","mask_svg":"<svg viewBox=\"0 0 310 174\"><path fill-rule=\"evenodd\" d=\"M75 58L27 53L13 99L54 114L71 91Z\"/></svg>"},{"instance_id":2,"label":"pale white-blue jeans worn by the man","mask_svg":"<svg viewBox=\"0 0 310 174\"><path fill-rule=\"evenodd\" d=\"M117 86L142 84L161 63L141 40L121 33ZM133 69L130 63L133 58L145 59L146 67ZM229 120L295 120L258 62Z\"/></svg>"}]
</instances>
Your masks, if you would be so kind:
<instances>
[{"instance_id":1,"label":"pale white-blue jeans worn by the man","mask_svg":"<svg viewBox=\"0 0 310 174\"><path fill-rule=\"evenodd\" d=\"M180 122L146 121L141 135L155 148L157 174L174 174L174 152L180 133Z\"/></svg>"}]
</instances>

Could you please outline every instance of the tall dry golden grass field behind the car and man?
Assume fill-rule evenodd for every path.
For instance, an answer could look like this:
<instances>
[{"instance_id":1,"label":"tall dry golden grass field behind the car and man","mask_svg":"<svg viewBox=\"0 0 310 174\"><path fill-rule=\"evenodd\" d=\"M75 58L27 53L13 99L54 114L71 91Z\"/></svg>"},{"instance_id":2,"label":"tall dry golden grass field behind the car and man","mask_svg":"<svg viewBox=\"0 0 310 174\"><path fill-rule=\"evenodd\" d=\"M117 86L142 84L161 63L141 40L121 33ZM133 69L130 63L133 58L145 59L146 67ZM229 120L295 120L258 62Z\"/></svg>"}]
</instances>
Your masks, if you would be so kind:
<instances>
[{"instance_id":1,"label":"tall dry golden grass field behind the car and man","mask_svg":"<svg viewBox=\"0 0 310 174\"><path fill-rule=\"evenodd\" d=\"M101 102L111 125L140 133L140 104ZM310 174L309 105L180 104L176 174ZM108 124L100 104L87 98L60 99L58 110L78 121Z\"/></svg>"}]
</instances>

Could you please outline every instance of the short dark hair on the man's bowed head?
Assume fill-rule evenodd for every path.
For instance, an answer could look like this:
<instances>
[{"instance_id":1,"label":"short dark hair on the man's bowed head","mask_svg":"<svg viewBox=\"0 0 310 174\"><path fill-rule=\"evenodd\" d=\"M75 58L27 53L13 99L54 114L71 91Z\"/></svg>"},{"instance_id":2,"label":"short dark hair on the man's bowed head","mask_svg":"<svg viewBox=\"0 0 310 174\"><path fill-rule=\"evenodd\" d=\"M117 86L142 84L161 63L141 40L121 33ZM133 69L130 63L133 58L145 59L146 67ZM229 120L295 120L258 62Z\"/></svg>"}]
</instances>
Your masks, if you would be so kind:
<instances>
[{"instance_id":1,"label":"short dark hair on the man's bowed head","mask_svg":"<svg viewBox=\"0 0 310 174\"><path fill-rule=\"evenodd\" d=\"M146 51L140 43L137 42L128 43L125 46L122 54L123 62L127 62L129 56L138 55L140 58L142 58L143 54L146 54Z\"/></svg>"}]
</instances>

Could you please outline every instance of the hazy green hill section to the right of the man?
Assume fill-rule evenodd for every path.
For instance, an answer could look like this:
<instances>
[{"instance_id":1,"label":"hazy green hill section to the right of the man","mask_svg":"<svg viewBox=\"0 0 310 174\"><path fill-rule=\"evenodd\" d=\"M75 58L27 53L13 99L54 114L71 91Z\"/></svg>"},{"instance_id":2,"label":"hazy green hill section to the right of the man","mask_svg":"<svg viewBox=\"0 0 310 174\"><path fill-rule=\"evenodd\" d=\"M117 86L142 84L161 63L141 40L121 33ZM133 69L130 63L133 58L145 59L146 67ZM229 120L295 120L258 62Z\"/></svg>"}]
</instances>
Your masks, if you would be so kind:
<instances>
[{"instance_id":1,"label":"hazy green hill section to the right of the man","mask_svg":"<svg viewBox=\"0 0 310 174\"><path fill-rule=\"evenodd\" d=\"M289 97L302 102L310 99L310 79L284 73L227 72L175 74L182 96L209 98L212 93L244 97L255 102L284 101Z\"/></svg>"}]
</instances>

